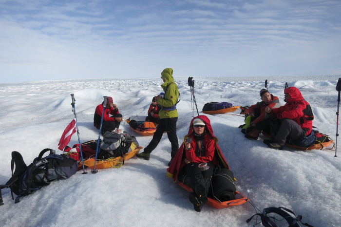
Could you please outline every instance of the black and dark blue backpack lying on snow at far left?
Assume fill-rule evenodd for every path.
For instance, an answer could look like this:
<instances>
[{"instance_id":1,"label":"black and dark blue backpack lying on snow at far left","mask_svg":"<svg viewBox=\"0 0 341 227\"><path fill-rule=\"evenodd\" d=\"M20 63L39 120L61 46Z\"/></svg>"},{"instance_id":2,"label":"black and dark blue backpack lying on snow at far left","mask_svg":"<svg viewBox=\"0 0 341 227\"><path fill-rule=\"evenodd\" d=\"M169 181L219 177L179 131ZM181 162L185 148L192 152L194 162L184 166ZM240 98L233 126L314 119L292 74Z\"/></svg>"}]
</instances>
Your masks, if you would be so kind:
<instances>
[{"instance_id":1,"label":"black and dark blue backpack lying on snow at far left","mask_svg":"<svg viewBox=\"0 0 341 227\"><path fill-rule=\"evenodd\" d=\"M43 158L48 151L50 154ZM34 193L52 181L74 175L77 171L77 162L65 154L56 154L55 150L47 148L39 153L31 165L26 166L22 155L18 151L13 151L11 169L12 177L5 185L0 185L0 189L10 188L12 199L13 193L18 195L15 203L19 203L20 197ZM2 204L0 190L0 205Z\"/></svg>"}]
</instances>

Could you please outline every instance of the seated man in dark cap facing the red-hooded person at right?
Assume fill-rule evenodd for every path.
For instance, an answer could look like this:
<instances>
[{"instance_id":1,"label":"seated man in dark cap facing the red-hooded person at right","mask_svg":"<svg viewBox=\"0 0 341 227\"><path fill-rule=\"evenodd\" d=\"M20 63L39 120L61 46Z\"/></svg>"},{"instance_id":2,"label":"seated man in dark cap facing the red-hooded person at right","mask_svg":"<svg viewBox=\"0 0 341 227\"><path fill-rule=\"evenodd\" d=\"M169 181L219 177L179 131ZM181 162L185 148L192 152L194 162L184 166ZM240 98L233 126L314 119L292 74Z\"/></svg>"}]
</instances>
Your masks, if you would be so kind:
<instances>
[{"instance_id":1,"label":"seated man in dark cap facing the red-hooded person at right","mask_svg":"<svg viewBox=\"0 0 341 227\"><path fill-rule=\"evenodd\" d=\"M265 119L265 108L277 108L280 107L280 100L277 96L273 96L266 89L262 89L259 93L261 95L261 102L257 102L248 108L248 114L250 119L250 125L245 130L245 137L248 139L257 140L262 130L269 132L268 126L270 119ZM247 121L248 119L246 119Z\"/></svg>"}]
</instances>

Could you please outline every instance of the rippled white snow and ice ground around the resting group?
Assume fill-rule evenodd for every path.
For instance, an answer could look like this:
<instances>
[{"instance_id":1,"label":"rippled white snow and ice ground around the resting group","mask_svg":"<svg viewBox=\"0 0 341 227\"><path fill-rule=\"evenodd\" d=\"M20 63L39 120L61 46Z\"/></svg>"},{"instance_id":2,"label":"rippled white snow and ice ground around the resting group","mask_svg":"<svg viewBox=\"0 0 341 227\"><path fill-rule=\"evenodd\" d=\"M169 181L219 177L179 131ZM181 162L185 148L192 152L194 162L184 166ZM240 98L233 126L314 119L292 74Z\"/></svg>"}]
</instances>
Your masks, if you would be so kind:
<instances>
[{"instance_id":1,"label":"rippled white snow and ice ground around the resting group","mask_svg":"<svg viewBox=\"0 0 341 227\"><path fill-rule=\"evenodd\" d=\"M182 142L193 116L187 77L177 78L181 102L177 105L178 138ZM336 139L338 76L319 77L194 77L199 112L205 103L227 101L235 106L260 101L259 91L268 80L268 90L284 105L284 84L299 88L315 115L314 126ZM96 105L103 95L112 96L123 115L146 115L152 96L160 93L158 78L145 79L70 79L0 84L0 183L11 177L11 151L19 151L30 164L44 148L55 149L65 127L76 112L81 142L97 139L93 126ZM194 115L197 115L196 110ZM341 148L334 157L330 150L283 151L269 149L244 137L238 126L244 117L239 111L208 115L214 134L231 170L236 185L261 211L285 207L303 215L303 222L318 227L341 224ZM131 132L128 124L121 129ZM146 147L152 137L134 132ZM77 143L76 134L70 145ZM10 190L3 189L0 226L252 226L246 219L256 210L246 203L225 209L205 206L196 212L188 192L166 177L170 142L166 134L149 161L133 157L122 168L99 170L70 179L55 181L15 204ZM247 194L247 193L246 193ZM258 219L259 221L259 219Z\"/></svg>"}]
</instances>

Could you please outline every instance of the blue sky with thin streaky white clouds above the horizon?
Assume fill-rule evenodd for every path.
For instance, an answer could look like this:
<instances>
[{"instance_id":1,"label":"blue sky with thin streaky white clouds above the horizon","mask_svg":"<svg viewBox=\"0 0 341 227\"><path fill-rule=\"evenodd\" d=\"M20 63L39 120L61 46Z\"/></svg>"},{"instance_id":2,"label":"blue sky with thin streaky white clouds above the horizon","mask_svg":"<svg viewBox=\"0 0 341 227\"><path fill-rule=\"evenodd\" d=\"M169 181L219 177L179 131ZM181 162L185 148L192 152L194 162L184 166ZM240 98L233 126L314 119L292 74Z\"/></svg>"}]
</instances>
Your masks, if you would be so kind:
<instances>
[{"instance_id":1,"label":"blue sky with thin streaky white clouds above the horizon","mask_svg":"<svg viewBox=\"0 0 341 227\"><path fill-rule=\"evenodd\" d=\"M341 74L339 0L0 0L1 82Z\"/></svg>"}]
</instances>

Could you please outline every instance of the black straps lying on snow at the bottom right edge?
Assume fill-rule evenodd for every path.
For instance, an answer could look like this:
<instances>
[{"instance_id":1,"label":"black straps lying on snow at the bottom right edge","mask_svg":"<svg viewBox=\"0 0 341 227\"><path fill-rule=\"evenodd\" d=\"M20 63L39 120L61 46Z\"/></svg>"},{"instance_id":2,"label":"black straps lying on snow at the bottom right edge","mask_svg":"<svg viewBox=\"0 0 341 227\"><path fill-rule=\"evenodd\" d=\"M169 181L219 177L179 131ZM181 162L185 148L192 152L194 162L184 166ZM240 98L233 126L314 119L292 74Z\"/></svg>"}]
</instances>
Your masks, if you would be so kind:
<instances>
[{"instance_id":1,"label":"black straps lying on snow at the bottom right edge","mask_svg":"<svg viewBox=\"0 0 341 227\"><path fill-rule=\"evenodd\" d=\"M292 213L295 216L295 218L285 211ZM275 222L272 221L269 216L267 216L267 214L269 214L269 213L276 213L276 214L280 215L281 217L283 217L285 219L285 221L289 224L289 227L301 227L301 224L304 226L307 226L307 227L313 227L307 223L301 222L302 215L296 216L293 211L291 211L290 209L284 208L284 207L264 208L262 213L256 213L256 214L252 215L252 217L247 219L246 222L249 223L254 216L258 215L261 217L263 226L265 226L265 227L277 227Z\"/></svg>"}]
</instances>

